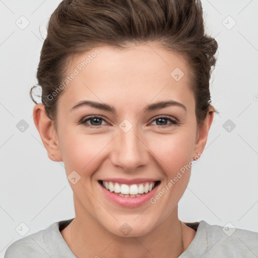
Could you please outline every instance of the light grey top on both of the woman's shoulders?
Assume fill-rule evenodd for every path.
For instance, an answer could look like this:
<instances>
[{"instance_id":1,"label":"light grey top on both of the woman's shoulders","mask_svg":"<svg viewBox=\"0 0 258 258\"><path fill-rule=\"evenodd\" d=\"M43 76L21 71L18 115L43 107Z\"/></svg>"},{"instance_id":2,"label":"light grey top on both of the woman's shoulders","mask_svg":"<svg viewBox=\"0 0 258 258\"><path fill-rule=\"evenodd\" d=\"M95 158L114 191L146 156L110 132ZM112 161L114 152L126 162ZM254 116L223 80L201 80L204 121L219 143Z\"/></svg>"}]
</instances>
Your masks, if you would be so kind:
<instances>
[{"instance_id":1,"label":"light grey top on both of the woman's shoulders","mask_svg":"<svg viewBox=\"0 0 258 258\"><path fill-rule=\"evenodd\" d=\"M4 258L75 258L60 230L73 219L54 222L44 230L12 243ZM195 238L179 258L258 257L258 233L222 226L205 221L185 223L197 231Z\"/></svg>"}]
</instances>

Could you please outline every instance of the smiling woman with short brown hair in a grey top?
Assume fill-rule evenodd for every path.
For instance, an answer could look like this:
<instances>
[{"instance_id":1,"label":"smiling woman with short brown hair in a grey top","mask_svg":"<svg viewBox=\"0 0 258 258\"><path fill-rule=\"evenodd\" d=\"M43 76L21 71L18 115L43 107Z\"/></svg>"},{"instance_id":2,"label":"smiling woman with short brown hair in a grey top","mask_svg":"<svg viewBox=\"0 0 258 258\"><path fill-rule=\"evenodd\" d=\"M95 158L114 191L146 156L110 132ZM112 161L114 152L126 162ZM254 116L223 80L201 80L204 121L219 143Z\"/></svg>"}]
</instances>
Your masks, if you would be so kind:
<instances>
[{"instance_id":1,"label":"smiling woman with short brown hair in a grey top","mask_svg":"<svg viewBox=\"0 0 258 258\"><path fill-rule=\"evenodd\" d=\"M216 112L216 50L199 1L62 1L33 117L48 157L64 163L76 216L16 241L5 257L258 255L255 232L225 234L177 215Z\"/></svg>"}]
</instances>

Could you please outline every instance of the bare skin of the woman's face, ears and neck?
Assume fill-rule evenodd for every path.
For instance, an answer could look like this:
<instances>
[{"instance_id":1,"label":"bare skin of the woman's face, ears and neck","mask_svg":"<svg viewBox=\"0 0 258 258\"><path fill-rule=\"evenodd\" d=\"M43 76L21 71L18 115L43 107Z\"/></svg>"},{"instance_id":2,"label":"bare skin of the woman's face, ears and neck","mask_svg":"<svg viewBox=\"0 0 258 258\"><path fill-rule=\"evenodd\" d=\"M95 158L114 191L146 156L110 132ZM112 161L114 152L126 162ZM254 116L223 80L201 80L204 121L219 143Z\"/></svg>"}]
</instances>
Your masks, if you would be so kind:
<instances>
[{"instance_id":1,"label":"bare skin of the woman's face, ears and neck","mask_svg":"<svg viewBox=\"0 0 258 258\"><path fill-rule=\"evenodd\" d=\"M208 112L203 125L197 124L190 68L182 56L154 43L122 50L108 46L98 49L100 53L59 96L57 130L42 104L33 110L48 157L63 161L67 176L74 170L81 176L76 184L69 181L76 216L61 235L78 257L177 257L196 234L177 215L190 169L155 204L134 208L110 202L97 180L155 178L161 181L159 192L180 168L203 152L214 111ZM74 58L67 75L93 51ZM184 73L179 81L170 76L175 68ZM117 114L90 106L70 112L82 100L113 105ZM167 106L144 113L146 105L166 100L180 102L186 110ZM87 121L88 126L79 124L90 115L104 120L98 120L101 125L92 120ZM180 123L160 122L159 115ZM133 125L127 133L119 127L124 119ZM126 236L119 230L124 223L132 228Z\"/></svg>"}]
</instances>

